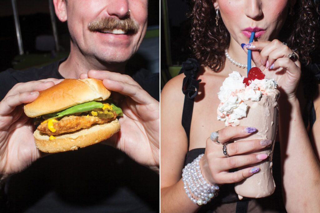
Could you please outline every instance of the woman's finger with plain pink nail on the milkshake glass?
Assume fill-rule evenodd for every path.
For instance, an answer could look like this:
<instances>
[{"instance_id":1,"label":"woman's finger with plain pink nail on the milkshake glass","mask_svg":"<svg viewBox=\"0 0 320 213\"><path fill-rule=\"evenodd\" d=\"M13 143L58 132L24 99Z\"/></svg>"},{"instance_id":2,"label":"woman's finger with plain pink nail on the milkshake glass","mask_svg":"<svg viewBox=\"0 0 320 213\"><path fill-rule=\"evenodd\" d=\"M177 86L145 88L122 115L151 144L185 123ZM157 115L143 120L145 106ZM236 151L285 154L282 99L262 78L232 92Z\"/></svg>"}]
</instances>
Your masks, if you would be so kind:
<instances>
[{"instance_id":1,"label":"woman's finger with plain pink nail on the milkshake glass","mask_svg":"<svg viewBox=\"0 0 320 213\"><path fill-rule=\"evenodd\" d=\"M222 149L221 149L221 152L222 152ZM220 171L228 171L230 169L259 163L266 158L268 158L268 155L266 154L250 154L250 155L224 157L224 158L221 158L220 164L217 167L219 168Z\"/></svg>"}]
</instances>

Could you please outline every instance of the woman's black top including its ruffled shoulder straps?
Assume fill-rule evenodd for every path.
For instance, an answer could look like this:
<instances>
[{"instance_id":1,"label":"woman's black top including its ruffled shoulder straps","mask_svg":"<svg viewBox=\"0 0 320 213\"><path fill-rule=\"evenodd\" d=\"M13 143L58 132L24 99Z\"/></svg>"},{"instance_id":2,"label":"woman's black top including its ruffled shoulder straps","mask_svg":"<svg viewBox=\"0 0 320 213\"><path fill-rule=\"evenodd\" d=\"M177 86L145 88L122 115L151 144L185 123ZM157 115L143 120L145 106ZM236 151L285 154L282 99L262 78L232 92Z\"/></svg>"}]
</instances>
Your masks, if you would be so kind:
<instances>
[{"instance_id":1,"label":"woman's black top including its ruffled shoulder straps","mask_svg":"<svg viewBox=\"0 0 320 213\"><path fill-rule=\"evenodd\" d=\"M301 76L304 85L304 96L307 100L306 106L303 110L303 120L306 127L311 130L315 120L316 113L313 105L313 97L317 91L317 80L320 80L320 66L310 65L304 67L305 72ZM183 111L182 111L182 126L188 136L188 148L190 140L190 127L193 113L194 99L198 93L199 82L196 80L199 65L196 59L188 58L186 62L182 63L180 73L185 74L183 79L182 92L185 95ZM311 132L311 131L310 131ZM185 158L185 165L191 163L197 156L203 154L205 148L196 148L188 151ZM276 142L274 147L273 162L280 161L280 144ZM236 171L236 170L234 170ZM275 192L269 197L250 199L238 199L238 195L234 190L235 184L224 184L220 187L219 196L206 205L203 205L198 212L286 212L283 198L282 198L282 182L281 182L281 168L280 163L273 164L273 177L276 183ZM254 204L250 204L254 202ZM221 208L222 207L222 208ZM258 210L259 209L259 210Z\"/></svg>"}]
</instances>

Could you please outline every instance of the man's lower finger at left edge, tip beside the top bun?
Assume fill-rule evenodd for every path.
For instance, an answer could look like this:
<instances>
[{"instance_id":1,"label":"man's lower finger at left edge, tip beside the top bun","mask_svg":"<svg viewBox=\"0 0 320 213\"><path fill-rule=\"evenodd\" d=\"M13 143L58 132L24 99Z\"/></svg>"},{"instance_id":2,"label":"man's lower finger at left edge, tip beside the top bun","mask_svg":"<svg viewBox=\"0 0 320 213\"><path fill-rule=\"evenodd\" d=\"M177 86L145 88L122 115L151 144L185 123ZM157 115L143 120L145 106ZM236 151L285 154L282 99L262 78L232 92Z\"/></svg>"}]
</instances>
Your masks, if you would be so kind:
<instances>
[{"instance_id":1,"label":"man's lower finger at left edge, tip beside the top bun","mask_svg":"<svg viewBox=\"0 0 320 213\"><path fill-rule=\"evenodd\" d=\"M9 95L0 102L0 116L6 116L22 103L31 103L39 96L38 91Z\"/></svg>"}]
</instances>

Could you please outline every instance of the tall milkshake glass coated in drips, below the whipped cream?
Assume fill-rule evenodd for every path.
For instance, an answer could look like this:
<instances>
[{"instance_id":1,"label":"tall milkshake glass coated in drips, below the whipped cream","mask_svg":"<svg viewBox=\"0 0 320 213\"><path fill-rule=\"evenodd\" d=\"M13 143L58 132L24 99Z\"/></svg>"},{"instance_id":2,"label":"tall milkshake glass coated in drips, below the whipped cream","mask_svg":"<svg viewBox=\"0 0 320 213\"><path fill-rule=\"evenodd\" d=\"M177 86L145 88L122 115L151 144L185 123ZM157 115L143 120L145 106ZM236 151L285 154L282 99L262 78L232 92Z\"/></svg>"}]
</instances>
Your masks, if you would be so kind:
<instances>
[{"instance_id":1,"label":"tall milkshake glass coated in drips, below the whipped cream","mask_svg":"<svg viewBox=\"0 0 320 213\"><path fill-rule=\"evenodd\" d=\"M278 127L277 100L279 94L280 92L275 89L271 94L262 95L260 101L245 101L248 105L248 112L247 116L240 120L240 125L254 126L257 128L257 132L237 141L269 139L272 144L259 152L254 152L255 154L267 154L269 157L258 164L250 165L259 167L258 173L235 184L235 191L239 195L239 199L242 197L267 197L275 191L276 184L272 176L272 154Z\"/></svg>"}]
</instances>

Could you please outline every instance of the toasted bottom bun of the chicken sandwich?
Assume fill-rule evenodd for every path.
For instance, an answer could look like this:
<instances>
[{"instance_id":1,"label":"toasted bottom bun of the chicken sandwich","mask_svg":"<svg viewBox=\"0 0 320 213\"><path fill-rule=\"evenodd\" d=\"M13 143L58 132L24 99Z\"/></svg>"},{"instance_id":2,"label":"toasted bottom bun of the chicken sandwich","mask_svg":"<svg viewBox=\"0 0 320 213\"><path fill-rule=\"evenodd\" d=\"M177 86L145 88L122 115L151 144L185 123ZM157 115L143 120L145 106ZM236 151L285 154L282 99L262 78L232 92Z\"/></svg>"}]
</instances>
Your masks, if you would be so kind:
<instances>
[{"instance_id":1,"label":"toasted bottom bun of the chicken sandwich","mask_svg":"<svg viewBox=\"0 0 320 213\"><path fill-rule=\"evenodd\" d=\"M49 140L49 135L35 131L36 147L42 152L56 153L75 150L90 146L110 138L120 130L118 119L109 123L98 124L74 133L55 135L56 139Z\"/></svg>"}]
</instances>

